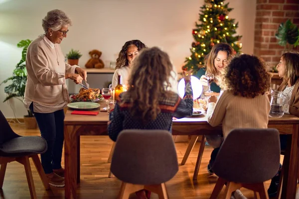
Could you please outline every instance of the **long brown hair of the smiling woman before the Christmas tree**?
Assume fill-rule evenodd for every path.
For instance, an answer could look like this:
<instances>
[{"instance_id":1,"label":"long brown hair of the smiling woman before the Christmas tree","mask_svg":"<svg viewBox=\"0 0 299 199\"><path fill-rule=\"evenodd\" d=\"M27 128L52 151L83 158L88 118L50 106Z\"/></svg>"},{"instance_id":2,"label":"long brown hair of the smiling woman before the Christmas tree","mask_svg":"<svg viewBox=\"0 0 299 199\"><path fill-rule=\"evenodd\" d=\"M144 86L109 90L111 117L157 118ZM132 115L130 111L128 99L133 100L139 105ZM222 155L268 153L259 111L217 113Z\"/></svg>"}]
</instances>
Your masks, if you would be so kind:
<instances>
[{"instance_id":1,"label":"long brown hair of the smiling woman before the Christmas tree","mask_svg":"<svg viewBox=\"0 0 299 199\"><path fill-rule=\"evenodd\" d=\"M207 73L211 73L213 75L218 75L218 71L215 67L214 60L217 57L219 51L227 52L227 60L229 61L234 55L234 49L227 43L219 43L216 44L209 54L207 54L204 58L204 67L206 68Z\"/></svg>"}]
</instances>

